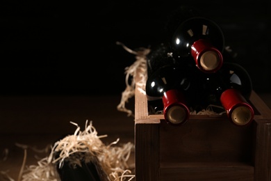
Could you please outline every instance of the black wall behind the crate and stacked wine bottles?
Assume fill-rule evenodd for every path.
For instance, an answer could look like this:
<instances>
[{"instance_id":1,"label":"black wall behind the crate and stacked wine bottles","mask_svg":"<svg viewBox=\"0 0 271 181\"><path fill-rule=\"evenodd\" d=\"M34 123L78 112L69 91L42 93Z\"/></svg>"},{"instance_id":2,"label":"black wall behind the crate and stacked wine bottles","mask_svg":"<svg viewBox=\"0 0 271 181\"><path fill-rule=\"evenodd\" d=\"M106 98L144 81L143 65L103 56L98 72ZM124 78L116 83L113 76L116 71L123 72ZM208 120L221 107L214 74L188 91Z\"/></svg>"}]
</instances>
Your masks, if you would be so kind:
<instances>
[{"instance_id":1,"label":"black wall behind the crate and stacked wine bottles","mask_svg":"<svg viewBox=\"0 0 271 181\"><path fill-rule=\"evenodd\" d=\"M271 92L265 1L1 1L0 95L120 95L136 58L115 42L155 45L181 5L217 22L254 90Z\"/></svg>"}]
</instances>

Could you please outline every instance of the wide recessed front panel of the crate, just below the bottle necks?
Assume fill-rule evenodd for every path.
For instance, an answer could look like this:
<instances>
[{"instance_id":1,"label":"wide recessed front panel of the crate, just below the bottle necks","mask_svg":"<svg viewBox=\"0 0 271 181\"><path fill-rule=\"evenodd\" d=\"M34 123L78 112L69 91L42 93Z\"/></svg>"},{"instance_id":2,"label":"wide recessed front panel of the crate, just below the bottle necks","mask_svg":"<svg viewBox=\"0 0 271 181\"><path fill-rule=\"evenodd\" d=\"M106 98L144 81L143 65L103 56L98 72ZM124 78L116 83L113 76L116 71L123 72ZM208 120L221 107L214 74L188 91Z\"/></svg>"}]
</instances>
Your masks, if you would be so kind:
<instances>
[{"instance_id":1,"label":"wide recessed front panel of the crate, just below the bottle necks","mask_svg":"<svg viewBox=\"0 0 271 181\"><path fill-rule=\"evenodd\" d=\"M252 162L253 126L227 118L188 120L173 127L161 120L161 162Z\"/></svg>"}]
</instances>

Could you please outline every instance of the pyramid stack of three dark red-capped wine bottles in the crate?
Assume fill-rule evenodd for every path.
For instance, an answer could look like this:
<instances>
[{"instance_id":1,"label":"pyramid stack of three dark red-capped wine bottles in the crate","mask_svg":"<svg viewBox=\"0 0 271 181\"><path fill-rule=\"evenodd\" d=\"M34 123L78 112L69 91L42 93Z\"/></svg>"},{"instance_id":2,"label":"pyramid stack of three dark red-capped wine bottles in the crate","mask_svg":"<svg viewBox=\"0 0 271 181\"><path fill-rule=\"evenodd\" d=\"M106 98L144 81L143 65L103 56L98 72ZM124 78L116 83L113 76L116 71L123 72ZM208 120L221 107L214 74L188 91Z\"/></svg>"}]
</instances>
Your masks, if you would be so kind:
<instances>
[{"instance_id":1,"label":"pyramid stack of three dark red-capped wine bottles in the crate","mask_svg":"<svg viewBox=\"0 0 271 181\"><path fill-rule=\"evenodd\" d=\"M168 41L147 56L149 111L163 113L171 125L183 125L192 110L217 105L234 125L252 123L252 81L225 50L220 26L190 7L181 7L171 20Z\"/></svg>"}]
</instances>

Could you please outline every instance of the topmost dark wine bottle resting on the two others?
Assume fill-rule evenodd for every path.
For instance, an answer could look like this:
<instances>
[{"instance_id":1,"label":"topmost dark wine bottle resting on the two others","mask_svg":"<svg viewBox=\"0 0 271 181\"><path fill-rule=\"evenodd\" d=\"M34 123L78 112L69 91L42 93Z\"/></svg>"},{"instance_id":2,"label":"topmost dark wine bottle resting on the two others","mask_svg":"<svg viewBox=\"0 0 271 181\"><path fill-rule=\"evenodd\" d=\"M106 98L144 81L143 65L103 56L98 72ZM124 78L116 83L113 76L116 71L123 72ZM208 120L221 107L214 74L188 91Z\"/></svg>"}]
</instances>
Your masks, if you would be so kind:
<instances>
[{"instance_id":1,"label":"topmost dark wine bottle resting on the two others","mask_svg":"<svg viewBox=\"0 0 271 181\"><path fill-rule=\"evenodd\" d=\"M223 63L224 34L213 20L195 13L191 7L184 7L172 15L178 19L167 23L173 56L192 57L202 72L219 70ZM172 25L173 24L173 25ZM178 26L176 26L178 24Z\"/></svg>"}]
</instances>

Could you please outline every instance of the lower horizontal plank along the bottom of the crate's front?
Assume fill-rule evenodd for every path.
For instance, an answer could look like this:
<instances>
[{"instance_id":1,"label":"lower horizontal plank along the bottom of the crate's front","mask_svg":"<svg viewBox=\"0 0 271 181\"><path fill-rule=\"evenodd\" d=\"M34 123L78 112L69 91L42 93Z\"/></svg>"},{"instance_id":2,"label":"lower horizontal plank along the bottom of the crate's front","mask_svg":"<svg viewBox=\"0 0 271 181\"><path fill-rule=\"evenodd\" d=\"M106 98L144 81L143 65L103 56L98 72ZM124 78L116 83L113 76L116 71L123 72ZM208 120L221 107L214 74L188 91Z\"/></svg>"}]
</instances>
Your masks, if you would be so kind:
<instances>
[{"instance_id":1,"label":"lower horizontal plank along the bottom of the crate's front","mask_svg":"<svg viewBox=\"0 0 271 181\"><path fill-rule=\"evenodd\" d=\"M252 181L254 167L240 163L186 163L183 166L171 166L167 163L161 166L161 180L178 181Z\"/></svg>"}]
</instances>

